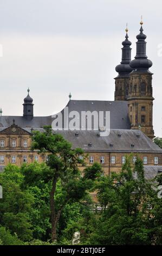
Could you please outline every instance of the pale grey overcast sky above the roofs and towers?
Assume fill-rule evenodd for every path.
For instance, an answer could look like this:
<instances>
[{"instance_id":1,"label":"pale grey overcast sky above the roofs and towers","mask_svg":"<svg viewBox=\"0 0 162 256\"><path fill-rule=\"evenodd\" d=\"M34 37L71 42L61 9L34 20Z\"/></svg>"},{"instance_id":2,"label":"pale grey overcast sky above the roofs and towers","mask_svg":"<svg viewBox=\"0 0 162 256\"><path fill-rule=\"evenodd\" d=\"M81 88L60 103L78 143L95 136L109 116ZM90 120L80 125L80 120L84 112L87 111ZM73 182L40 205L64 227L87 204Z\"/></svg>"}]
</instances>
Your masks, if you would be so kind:
<instances>
[{"instance_id":1,"label":"pale grey overcast sky above the roofs and towers","mask_svg":"<svg viewBox=\"0 0 162 256\"><path fill-rule=\"evenodd\" d=\"M161 10L159 0L0 0L3 114L22 115L28 87L35 115L60 111L69 92L77 100L114 100L126 22L133 59L142 14L153 62L154 130L162 137Z\"/></svg>"}]
</instances>

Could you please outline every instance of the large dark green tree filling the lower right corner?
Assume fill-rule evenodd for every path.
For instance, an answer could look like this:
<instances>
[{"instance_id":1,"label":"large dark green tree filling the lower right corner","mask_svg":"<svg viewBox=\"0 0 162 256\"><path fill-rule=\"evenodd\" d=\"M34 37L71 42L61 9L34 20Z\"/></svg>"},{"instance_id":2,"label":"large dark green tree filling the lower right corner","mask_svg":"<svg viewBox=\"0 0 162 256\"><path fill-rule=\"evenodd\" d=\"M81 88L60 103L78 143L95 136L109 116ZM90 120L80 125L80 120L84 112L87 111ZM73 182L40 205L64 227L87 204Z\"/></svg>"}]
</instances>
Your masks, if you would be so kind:
<instances>
[{"instance_id":1,"label":"large dark green tree filling the lower right corner","mask_svg":"<svg viewBox=\"0 0 162 256\"><path fill-rule=\"evenodd\" d=\"M96 180L102 210L82 220L81 242L88 245L160 245L161 199L144 176L142 161L126 159L119 174Z\"/></svg>"}]
</instances>

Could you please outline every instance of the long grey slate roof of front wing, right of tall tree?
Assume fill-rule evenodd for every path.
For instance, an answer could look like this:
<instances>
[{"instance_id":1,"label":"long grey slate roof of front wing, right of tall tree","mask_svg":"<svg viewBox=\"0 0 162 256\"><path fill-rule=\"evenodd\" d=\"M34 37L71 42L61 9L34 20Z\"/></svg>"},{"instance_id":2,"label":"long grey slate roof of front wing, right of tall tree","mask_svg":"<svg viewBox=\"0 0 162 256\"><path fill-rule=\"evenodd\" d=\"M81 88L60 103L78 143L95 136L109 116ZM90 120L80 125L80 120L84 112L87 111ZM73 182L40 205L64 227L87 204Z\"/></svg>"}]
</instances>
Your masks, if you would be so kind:
<instances>
[{"instance_id":1,"label":"long grey slate roof of front wing, right of tall tree","mask_svg":"<svg viewBox=\"0 0 162 256\"><path fill-rule=\"evenodd\" d=\"M82 148L85 151L162 153L162 149L140 130L112 129L109 136L105 137L99 137L99 131L67 130L56 132L61 133L65 139L70 141L73 148Z\"/></svg>"}]
</instances>

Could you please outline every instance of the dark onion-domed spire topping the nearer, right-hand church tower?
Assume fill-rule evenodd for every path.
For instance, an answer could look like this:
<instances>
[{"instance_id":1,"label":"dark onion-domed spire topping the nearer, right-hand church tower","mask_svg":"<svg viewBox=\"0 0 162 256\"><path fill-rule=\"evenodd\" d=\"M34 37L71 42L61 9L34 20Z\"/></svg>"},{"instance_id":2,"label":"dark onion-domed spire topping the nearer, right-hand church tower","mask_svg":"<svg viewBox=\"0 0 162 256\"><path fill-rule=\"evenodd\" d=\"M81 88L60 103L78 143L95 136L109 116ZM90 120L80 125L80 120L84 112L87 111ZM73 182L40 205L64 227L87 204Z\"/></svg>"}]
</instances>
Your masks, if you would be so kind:
<instances>
[{"instance_id":1,"label":"dark onion-domed spire topping the nearer, right-hand church tower","mask_svg":"<svg viewBox=\"0 0 162 256\"><path fill-rule=\"evenodd\" d=\"M136 42L136 55L135 59L130 62L130 66L134 71L141 71L141 72L150 72L148 69L152 66L151 60L147 59L146 55L146 35L143 33L144 29L142 28L143 21L141 16L140 21L140 34L136 36L138 41Z\"/></svg>"}]
</instances>

